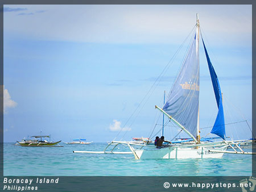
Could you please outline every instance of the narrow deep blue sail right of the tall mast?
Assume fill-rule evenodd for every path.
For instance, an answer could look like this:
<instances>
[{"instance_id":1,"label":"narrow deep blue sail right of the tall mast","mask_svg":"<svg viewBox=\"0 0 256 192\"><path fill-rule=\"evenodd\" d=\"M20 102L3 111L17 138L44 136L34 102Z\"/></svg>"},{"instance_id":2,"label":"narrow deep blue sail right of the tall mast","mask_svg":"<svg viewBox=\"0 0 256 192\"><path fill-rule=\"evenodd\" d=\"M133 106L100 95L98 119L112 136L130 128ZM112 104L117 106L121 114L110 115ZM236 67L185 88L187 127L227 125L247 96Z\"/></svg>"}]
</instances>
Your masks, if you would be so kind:
<instances>
[{"instance_id":1,"label":"narrow deep blue sail right of the tall mast","mask_svg":"<svg viewBox=\"0 0 256 192\"><path fill-rule=\"evenodd\" d=\"M202 40L203 40L203 38L202 38ZM204 40L203 40L203 44L204 44ZM215 120L212 131L210 133L218 135L218 136L222 137L222 139L225 140L226 139L225 121L224 121L224 111L223 111L223 106L222 106L222 95L221 95L220 84L218 83L218 77L214 71L212 62L210 62L210 58L209 58L207 49L205 47L205 44L204 44L204 51L205 51L205 55L207 57L208 67L209 67L209 71L210 71L210 77L212 78L213 90L214 90L214 94L215 94L216 102L217 102L217 106L218 106L218 115Z\"/></svg>"}]
</instances>

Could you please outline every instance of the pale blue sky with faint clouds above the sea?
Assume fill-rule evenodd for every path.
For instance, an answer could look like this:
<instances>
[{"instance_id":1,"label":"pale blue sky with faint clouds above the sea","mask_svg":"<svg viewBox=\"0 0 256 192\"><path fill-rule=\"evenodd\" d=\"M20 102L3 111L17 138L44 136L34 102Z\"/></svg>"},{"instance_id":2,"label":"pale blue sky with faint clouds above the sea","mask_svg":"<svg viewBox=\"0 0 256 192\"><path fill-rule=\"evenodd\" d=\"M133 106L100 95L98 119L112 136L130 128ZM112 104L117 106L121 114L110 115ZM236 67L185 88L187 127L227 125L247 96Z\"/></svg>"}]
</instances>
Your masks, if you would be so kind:
<instances>
[{"instance_id":1,"label":"pale blue sky with faint clouds above the sea","mask_svg":"<svg viewBox=\"0 0 256 192\"><path fill-rule=\"evenodd\" d=\"M113 140L195 26L197 12L226 123L247 119L251 126L250 5L5 5L4 85L16 105L6 107L4 141L40 130L55 140ZM200 127L208 127L217 106L200 46ZM126 124L125 140L150 135L154 106L162 106L186 48ZM245 122L234 125L238 130L227 126L227 136L250 137ZM167 128L167 139L174 134Z\"/></svg>"}]
</instances>

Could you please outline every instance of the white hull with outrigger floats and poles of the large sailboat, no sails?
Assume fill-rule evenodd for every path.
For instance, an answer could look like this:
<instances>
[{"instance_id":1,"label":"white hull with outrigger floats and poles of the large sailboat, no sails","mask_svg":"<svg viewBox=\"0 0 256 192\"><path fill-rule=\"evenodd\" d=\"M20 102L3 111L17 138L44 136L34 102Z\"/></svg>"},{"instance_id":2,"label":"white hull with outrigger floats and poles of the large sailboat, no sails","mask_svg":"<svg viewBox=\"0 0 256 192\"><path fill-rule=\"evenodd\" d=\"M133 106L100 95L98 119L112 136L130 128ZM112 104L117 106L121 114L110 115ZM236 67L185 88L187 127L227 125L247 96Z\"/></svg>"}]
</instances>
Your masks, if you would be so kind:
<instances>
[{"instance_id":1,"label":"white hull with outrigger floats and poles of the large sailboat, no sails","mask_svg":"<svg viewBox=\"0 0 256 192\"><path fill-rule=\"evenodd\" d=\"M114 149L119 145L127 145L130 152L118 152ZM242 155L256 155L254 152L245 152L240 145L250 145L251 140L219 141L196 144L193 142L165 145L163 148L155 148L154 145L138 144L132 141L112 141L104 151L73 151L73 153L98 153L98 154L133 154L136 160L150 158L220 158L224 153ZM114 145L113 148L110 146ZM234 147L233 147L234 146ZM237 147L240 151L235 149ZM232 148L233 151L226 151Z\"/></svg>"}]
</instances>

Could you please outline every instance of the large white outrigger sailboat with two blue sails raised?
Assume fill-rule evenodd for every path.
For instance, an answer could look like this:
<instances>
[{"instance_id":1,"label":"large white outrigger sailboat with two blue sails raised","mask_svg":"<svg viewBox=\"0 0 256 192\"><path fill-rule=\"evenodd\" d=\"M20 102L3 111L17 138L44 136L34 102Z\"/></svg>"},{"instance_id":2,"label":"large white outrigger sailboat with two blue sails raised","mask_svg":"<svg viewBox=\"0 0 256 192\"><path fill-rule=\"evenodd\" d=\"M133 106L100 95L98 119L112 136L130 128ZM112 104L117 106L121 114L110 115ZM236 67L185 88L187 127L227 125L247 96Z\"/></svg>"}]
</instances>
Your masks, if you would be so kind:
<instances>
[{"instance_id":1,"label":"large white outrigger sailboat with two blue sails raised","mask_svg":"<svg viewBox=\"0 0 256 192\"><path fill-rule=\"evenodd\" d=\"M74 151L80 153L119 153L133 154L135 159L145 158L220 158L224 153L237 153L243 155L251 155L254 153L244 152L240 144L250 144L251 140L228 141L225 133L224 110L222 106L222 93L218 82L217 74L214 71L212 62L209 59L207 48L205 47L203 37L201 39L204 45L205 56L207 57L208 68L214 94L216 97L218 114L214 126L210 133L213 133L223 139L223 141L209 142L200 140L199 131L199 39L200 39L200 24L197 14L196 31L193 35L193 40L189 46L187 55L183 61L180 72L176 78L174 85L167 97L163 108L155 106L163 112L173 123L176 124L182 131L191 137L191 141L172 143L163 148L152 148L146 144L136 144L127 141L112 141L103 152L90 151ZM106 151L110 145L125 144L131 152L114 152ZM135 148L134 146L140 147ZM133 146L133 147L132 147ZM235 149L239 149L237 151ZM232 148L234 151L226 151Z\"/></svg>"}]
</instances>

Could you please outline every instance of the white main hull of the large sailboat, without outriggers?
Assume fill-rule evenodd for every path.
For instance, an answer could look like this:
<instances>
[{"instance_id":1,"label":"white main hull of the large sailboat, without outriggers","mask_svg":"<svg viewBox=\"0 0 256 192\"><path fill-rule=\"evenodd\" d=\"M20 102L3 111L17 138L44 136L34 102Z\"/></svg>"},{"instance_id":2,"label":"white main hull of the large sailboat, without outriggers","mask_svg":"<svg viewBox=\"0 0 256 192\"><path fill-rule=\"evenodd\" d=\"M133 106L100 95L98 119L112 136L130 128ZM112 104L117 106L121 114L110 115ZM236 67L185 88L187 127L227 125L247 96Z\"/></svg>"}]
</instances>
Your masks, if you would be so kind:
<instances>
[{"instance_id":1,"label":"white main hull of the large sailboat, without outriggers","mask_svg":"<svg viewBox=\"0 0 256 192\"><path fill-rule=\"evenodd\" d=\"M221 158L224 153L214 152L226 151L228 147L204 148L204 147L166 147L154 149L134 149L134 157L137 159L150 158ZM210 150L210 152L209 152Z\"/></svg>"}]
</instances>

